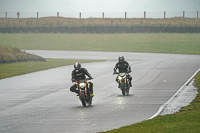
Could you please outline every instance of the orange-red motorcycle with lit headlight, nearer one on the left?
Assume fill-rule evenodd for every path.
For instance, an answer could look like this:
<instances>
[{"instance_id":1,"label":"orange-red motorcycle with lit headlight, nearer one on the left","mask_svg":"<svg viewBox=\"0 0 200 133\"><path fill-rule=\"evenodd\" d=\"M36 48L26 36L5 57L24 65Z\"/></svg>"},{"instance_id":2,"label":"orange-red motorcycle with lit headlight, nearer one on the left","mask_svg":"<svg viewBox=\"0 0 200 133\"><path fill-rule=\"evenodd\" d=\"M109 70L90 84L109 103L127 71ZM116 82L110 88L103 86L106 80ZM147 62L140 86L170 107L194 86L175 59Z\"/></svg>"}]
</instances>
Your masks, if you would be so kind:
<instances>
[{"instance_id":1,"label":"orange-red motorcycle with lit headlight, nearer one on the left","mask_svg":"<svg viewBox=\"0 0 200 133\"><path fill-rule=\"evenodd\" d=\"M89 93L89 79L79 80L75 84L78 85L78 96L84 107L92 104L92 96Z\"/></svg>"}]
</instances>

